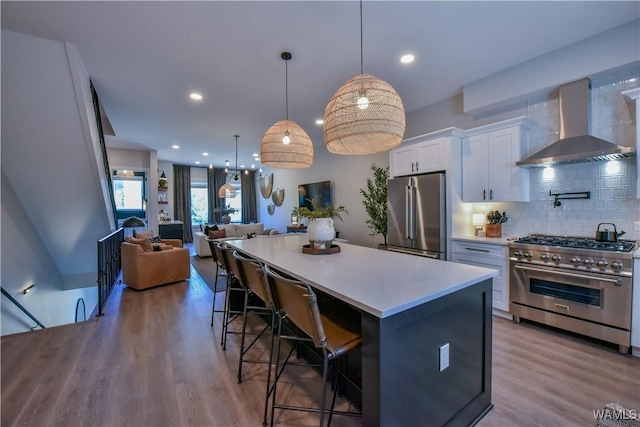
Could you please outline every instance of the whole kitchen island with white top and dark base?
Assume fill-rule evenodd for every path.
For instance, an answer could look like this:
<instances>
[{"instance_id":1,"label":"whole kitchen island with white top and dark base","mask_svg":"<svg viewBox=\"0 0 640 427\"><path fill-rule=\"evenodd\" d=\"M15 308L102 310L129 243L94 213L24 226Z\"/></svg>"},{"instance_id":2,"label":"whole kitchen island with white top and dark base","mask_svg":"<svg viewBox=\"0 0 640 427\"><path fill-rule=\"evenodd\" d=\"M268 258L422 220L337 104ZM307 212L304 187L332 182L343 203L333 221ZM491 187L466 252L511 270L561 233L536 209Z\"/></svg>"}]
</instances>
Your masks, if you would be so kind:
<instances>
[{"instance_id":1,"label":"whole kitchen island with white top and dark base","mask_svg":"<svg viewBox=\"0 0 640 427\"><path fill-rule=\"evenodd\" d=\"M360 312L364 426L471 425L491 409L495 270L347 243L308 255L304 235L226 243Z\"/></svg>"}]
</instances>

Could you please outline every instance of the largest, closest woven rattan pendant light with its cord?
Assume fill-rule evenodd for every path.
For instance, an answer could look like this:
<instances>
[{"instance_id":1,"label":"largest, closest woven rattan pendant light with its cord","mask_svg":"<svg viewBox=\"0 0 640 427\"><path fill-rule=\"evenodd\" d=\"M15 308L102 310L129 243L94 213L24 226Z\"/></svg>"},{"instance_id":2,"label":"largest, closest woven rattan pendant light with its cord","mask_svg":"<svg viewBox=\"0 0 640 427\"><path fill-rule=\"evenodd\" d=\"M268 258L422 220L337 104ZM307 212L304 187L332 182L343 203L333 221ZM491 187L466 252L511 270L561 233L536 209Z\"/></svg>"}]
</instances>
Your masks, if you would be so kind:
<instances>
[{"instance_id":1,"label":"largest, closest woven rattan pendant light with its cord","mask_svg":"<svg viewBox=\"0 0 640 427\"><path fill-rule=\"evenodd\" d=\"M363 70L360 0L360 74L347 80L324 110L324 142L332 153L381 153L402 143L405 114L400 95Z\"/></svg>"}]
</instances>

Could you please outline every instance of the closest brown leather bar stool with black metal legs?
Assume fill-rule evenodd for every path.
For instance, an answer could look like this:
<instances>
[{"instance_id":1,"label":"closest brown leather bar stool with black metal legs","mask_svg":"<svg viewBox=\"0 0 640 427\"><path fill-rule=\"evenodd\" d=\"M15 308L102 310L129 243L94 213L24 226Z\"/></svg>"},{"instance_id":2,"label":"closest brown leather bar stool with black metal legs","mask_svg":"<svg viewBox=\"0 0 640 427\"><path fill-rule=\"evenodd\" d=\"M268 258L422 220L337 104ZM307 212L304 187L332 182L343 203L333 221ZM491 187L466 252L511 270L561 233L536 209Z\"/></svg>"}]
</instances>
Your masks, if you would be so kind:
<instances>
[{"instance_id":1,"label":"closest brown leather bar stool with black metal legs","mask_svg":"<svg viewBox=\"0 0 640 427\"><path fill-rule=\"evenodd\" d=\"M307 412L320 412L320 426L324 425L324 415L326 410L327 376L329 362L339 360L341 356L355 349L361 344L360 334L350 330L342 322L339 316L328 316L320 312L318 300L313 289L308 284L284 277L283 274L274 271L269 266L265 266L264 275L273 296L274 307L286 316L300 332L306 336L293 336L282 334L282 322L278 325L278 345L276 349L276 374L273 384L273 397L271 403L271 425L273 426L276 409L297 410ZM316 348L322 349L323 369L322 369L322 398L320 408L307 408L300 406L285 405L277 402L278 380L282 375L289 359L293 353L292 346L287 357L280 367L280 345L283 340L293 340L296 344L299 341L313 342ZM313 366L313 365L311 365ZM338 368L339 369L339 368ZM335 399L338 394L339 382L342 375L338 370L334 377L334 393L329 410L328 425L331 424L331 417L334 413L340 415L361 415L359 412L334 412Z\"/></svg>"}]
</instances>

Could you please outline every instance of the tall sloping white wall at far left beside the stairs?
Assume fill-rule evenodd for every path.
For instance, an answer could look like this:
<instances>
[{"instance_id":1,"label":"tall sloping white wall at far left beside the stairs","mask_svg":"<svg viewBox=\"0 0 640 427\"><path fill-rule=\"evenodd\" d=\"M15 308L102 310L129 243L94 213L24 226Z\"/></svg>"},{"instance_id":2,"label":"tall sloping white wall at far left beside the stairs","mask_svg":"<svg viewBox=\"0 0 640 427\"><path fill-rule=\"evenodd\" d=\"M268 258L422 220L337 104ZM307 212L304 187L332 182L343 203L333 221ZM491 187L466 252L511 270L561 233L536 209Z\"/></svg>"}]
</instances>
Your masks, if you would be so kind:
<instances>
[{"instance_id":1,"label":"tall sloping white wall at far left beside the stairs","mask_svg":"<svg viewBox=\"0 0 640 427\"><path fill-rule=\"evenodd\" d=\"M63 43L2 30L4 179L70 289L95 286L96 241L112 229L95 157L89 80L68 53ZM74 86L78 79L81 87ZM8 231L4 222L2 231Z\"/></svg>"}]
</instances>

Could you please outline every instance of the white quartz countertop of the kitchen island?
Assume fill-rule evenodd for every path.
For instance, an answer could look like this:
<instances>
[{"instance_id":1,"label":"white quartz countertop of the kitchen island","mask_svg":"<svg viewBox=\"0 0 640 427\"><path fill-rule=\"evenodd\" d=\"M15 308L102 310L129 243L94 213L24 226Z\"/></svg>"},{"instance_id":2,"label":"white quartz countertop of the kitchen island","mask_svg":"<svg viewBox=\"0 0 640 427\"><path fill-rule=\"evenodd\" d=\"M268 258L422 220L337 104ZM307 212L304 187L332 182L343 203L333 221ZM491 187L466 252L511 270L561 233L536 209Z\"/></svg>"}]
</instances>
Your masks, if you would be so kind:
<instances>
[{"instance_id":1,"label":"white quartz countertop of the kitchen island","mask_svg":"<svg viewBox=\"0 0 640 427\"><path fill-rule=\"evenodd\" d=\"M225 243L379 318L497 276L497 270L340 243L331 255L302 253L303 234Z\"/></svg>"}]
</instances>

